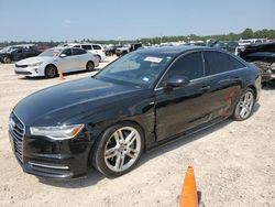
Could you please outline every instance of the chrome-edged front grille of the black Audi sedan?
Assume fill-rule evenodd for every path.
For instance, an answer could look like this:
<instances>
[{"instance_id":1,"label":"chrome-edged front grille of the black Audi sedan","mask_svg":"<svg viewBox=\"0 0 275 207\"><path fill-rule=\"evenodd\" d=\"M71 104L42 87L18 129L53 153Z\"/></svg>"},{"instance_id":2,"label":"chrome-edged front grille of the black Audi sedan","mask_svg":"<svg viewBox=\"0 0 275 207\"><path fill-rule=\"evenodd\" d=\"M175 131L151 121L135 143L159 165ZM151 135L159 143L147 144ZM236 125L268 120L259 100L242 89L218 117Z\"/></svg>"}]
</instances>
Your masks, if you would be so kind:
<instances>
[{"instance_id":1,"label":"chrome-edged front grille of the black Audi sedan","mask_svg":"<svg viewBox=\"0 0 275 207\"><path fill-rule=\"evenodd\" d=\"M11 113L9 126L10 134L14 145L14 153L20 162L23 162L23 138L25 131L24 123L14 113Z\"/></svg>"}]
</instances>

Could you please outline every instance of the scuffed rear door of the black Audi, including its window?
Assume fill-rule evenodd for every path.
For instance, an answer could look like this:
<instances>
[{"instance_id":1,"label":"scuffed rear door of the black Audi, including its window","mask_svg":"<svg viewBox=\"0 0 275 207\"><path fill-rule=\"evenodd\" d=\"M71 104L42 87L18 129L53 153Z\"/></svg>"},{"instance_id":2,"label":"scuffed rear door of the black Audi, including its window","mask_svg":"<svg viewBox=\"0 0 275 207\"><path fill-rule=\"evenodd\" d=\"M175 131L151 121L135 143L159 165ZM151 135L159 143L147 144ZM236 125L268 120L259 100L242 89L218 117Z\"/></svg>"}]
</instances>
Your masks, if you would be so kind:
<instances>
[{"instance_id":1,"label":"scuffed rear door of the black Audi, including its window","mask_svg":"<svg viewBox=\"0 0 275 207\"><path fill-rule=\"evenodd\" d=\"M233 56L217 51L205 51L206 76L210 83L212 118L228 117L241 92L245 65Z\"/></svg>"}]
</instances>

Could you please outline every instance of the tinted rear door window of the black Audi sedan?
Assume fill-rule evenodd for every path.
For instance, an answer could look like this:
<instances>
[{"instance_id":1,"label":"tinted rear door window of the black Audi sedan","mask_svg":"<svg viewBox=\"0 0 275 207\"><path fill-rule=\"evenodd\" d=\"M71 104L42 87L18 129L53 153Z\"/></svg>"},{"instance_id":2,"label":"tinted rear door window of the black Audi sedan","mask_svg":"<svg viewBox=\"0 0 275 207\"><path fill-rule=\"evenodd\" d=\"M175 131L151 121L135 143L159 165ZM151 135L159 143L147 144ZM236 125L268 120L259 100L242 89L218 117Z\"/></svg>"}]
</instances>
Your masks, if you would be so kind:
<instances>
[{"instance_id":1,"label":"tinted rear door window of the black Audi sedan","mask_svg":"<svg viewBox=\"0 0 275 207\"><path fill-rule=\"evenodd\" d=\"M207 75L230 72L234 69L230 56L219 52L204 52Z\"/></svg>"}]
</instances>

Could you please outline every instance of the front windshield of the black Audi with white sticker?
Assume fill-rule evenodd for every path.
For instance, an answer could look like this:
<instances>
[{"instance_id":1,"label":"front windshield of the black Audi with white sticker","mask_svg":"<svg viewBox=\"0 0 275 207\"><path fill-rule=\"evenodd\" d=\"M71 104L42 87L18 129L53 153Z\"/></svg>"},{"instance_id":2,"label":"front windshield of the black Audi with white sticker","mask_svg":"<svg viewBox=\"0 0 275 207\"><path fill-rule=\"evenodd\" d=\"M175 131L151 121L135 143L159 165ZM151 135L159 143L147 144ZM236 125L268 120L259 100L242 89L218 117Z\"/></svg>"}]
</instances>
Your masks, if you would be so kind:
<instances>
[{"instance_id":1,"label":"front windshield of the black Audi with white sticker","mask_svg":"<svg viewBox=\"0 0 275 207\"><path fill-rule=\"evenodd\" d=\"M172 55L130 53L108 65L96 78L148 88L173 59Z\"/></svg>"}]
</instances>

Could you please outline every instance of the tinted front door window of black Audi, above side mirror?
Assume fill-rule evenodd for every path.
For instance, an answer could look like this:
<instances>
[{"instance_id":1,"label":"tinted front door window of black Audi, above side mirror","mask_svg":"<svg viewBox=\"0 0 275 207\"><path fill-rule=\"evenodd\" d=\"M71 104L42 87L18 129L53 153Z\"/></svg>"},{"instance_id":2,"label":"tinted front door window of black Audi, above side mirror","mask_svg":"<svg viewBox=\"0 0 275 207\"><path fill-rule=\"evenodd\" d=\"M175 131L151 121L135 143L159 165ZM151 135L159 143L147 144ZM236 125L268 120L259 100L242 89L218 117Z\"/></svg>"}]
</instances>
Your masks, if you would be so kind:
<instances>
[{"instance_id":1,"label":"tinted front door window of black Audi, above side mirror","mask_svg":"<svg viewBox=\"0 0 275 207\"><path fill-rule=\"evenodd\" d=\"M174 75L186 76L189 79L196 79L204 76L204 65L201 53L185 55L176 61L167 73L167 77Z\"/></svg>"}]
</instances>

